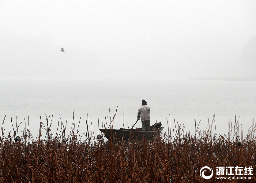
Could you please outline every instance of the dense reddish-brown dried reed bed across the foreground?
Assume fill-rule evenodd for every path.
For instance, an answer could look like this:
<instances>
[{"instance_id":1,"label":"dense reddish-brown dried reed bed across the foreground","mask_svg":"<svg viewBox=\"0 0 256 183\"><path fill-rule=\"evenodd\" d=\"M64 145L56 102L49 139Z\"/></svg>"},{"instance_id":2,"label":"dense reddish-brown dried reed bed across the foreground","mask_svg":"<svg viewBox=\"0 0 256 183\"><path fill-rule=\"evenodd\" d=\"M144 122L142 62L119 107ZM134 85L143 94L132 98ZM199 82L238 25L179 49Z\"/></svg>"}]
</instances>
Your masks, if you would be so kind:
<instances>
[{"instance_id":1,"label":"dense reddish-brown dried reed bed across the foreground","mask_svg":"<svg viewBox=\"0 0 256 183\"><path fill-rule=\"evenodd\" d=\"M54 136L49 120L46 127L40 124L36 140L27 130L15 141L16 134L3 135L2 125L0 182L256 182L255 125L243 137L239 120L233 125L230 121L228 135L222 136L213 131L213 122L214 116L204 131L195 122L192 133L174 120L176 129L168 129L161 138L116 144L87 132L81 141L74 125L67 135L63 123ZM16 123L15 132L17 127ZM219 166L252 166L253 179L217 180L214 174L206 180L199 175L204 166L214 171Z\"/></svg>"}]
</instances>

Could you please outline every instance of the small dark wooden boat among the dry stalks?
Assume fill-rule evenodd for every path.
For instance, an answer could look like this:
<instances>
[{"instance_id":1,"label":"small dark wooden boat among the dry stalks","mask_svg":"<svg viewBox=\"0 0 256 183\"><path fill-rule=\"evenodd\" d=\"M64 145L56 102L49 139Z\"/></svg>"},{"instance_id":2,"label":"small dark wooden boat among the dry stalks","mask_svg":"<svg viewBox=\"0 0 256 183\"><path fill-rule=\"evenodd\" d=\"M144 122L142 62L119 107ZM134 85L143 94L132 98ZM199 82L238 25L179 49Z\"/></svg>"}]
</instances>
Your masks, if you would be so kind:
<instances>
[{"instance_id":1,"label":"small dark wooden boat among the dry stalks","mask_svg":"<svg viewBox=\"0 0 256 183\"><path fill-rule=\"evenodd\" d=\"M115 142L129 142L132 139L141 139L146 138L148 141L152 140L154 137L160 137L161 132L164 127L161 123L155 123L150 126L149 130L142 130L142 128L135 129L126 129L120 128L119 130L115 129L100 129L103 132L105 137L109 140L112 139Z\"/></svg>"}]
</instances>

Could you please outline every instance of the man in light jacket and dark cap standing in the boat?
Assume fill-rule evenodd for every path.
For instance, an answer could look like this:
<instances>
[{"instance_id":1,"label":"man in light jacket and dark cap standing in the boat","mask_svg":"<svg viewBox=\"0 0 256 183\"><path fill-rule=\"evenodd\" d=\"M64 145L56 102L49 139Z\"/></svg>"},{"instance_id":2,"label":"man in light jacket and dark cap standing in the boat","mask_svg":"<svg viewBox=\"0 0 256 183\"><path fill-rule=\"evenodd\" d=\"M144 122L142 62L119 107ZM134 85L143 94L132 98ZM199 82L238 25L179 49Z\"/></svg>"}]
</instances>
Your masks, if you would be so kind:
<instances>
[{"instance_id":1,"label":"man in light jacket and dark cap standing in the boat","mask_svg":"<svg viewBox=\"0 0 256 183\"><path fill-rule=\"evenodd\" d=\"M150 125L150 108L147 106L147 102L142 100L142 106L139 108L137 119L141 117L141 124L143 130L149 130Z\"/></svg>"}]
</instances>

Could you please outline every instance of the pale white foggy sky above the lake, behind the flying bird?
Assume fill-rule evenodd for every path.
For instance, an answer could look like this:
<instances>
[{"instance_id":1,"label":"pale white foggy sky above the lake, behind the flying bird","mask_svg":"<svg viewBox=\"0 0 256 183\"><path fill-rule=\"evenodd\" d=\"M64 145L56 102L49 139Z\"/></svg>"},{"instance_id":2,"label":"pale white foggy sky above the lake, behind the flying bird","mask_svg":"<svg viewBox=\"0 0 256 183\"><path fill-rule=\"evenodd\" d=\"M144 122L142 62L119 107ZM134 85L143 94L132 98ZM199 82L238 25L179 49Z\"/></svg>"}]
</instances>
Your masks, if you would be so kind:
<instances>
[{"instance_id":1,"label":"pale white foggy sky above the lake, behind the flying bird","mask_svg":"<svg viewBox=\"0 0 256 183\"><path fill-rule=\"evenodd\" d=\"M1 0L0 78L255 77L255 9L255 1Z\"/></svg>"}]
</instances>

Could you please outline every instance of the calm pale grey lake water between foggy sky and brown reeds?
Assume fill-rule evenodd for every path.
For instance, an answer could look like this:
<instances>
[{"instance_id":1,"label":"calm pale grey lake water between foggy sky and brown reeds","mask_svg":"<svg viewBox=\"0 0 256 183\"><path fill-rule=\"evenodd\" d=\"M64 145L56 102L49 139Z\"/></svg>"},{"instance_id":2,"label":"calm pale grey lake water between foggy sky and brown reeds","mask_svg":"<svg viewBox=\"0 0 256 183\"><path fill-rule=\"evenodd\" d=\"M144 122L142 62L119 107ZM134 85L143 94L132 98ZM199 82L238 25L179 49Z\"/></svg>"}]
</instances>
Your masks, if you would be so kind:
<instances>
[{"instance_id":1,"label":"calm pale grey lake water between foggy sky and brown reeds","mask_svg":"<svg viewBox=\"0 0 256 183\"><path fill-rule=\"evenodd\" d=\"M0 81L0 117L6 115L5 135L13 131L11 117L18 124L19 133L28 128L38 135L40 116L46 124L46 115L52 118L52 129L58 126L60 117L70 129L74 120L76 127L80 116L80 133L85 133L87 114L92 122L92 131L97 134L98 120L101 128L105 117L109 122L109 111L114 120L114 128L131 127L137 120L137 110L145 99L151 108L151 124L161 122L167 130L166 117L171 116L171 129L174 118L179 124L194 130L194 119L201 120L199 128L203 131L216 117L216 131L228 133L228 120L235 121L235 115L243 124L244 133L256 117L256 82L253 81L204 81L173 80L162 82L100 82L100 81ZM140 122L136 127L140 126ZM192 128L192 129L191 129ZM244 135L245 136L245 135Z\"/></svg>"}]
</instances>

